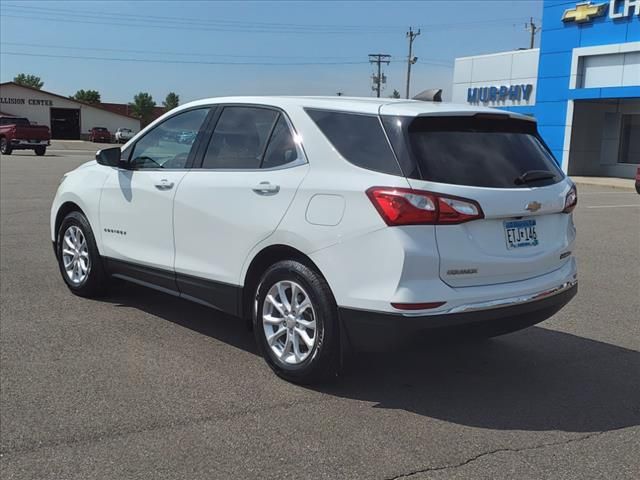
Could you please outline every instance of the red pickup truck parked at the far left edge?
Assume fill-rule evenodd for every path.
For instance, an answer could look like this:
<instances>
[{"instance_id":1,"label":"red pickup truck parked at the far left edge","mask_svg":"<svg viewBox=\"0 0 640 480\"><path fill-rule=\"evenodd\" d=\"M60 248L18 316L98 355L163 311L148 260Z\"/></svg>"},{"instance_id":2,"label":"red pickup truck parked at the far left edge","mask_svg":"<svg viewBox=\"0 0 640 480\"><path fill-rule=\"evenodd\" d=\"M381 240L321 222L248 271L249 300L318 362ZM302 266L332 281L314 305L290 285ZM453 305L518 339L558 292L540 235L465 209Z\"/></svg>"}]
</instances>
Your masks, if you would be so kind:
<instances>
[{"instance_id":1,"label":"red pickup truck parked at the far left edge","mask_svg":"<svg viewBox=\"0 0 640 480\"><path fill-rule=\"evenodd\" d=\"M0 116L0 153L11 155L14 150L33 150L44 155L51 145L51 133L46 125L31 125L24 117Z\"/></svg>"}]
</instances>

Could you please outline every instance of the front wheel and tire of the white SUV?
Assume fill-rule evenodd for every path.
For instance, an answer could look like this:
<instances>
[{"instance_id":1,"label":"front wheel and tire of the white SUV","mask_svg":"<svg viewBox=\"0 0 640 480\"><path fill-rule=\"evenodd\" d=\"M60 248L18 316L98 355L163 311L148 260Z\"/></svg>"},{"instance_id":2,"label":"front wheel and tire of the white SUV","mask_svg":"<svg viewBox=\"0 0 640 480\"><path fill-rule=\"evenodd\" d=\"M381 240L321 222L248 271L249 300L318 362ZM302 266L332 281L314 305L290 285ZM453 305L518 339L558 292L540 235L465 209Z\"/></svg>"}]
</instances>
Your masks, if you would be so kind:
<instances>
[{"instance_id":1,"label":"front wheel and tire of the white SUV","mask_svg":"<svg viewBox=\"0 0 640 480\"><path fill-rule=\"evenodd\" d=\"M56 238L56 256L62 278L71 292L88 298L105 293L108 278L93 231L82 213L71 212L62 220Z\"/></svg>"}]
</instances>

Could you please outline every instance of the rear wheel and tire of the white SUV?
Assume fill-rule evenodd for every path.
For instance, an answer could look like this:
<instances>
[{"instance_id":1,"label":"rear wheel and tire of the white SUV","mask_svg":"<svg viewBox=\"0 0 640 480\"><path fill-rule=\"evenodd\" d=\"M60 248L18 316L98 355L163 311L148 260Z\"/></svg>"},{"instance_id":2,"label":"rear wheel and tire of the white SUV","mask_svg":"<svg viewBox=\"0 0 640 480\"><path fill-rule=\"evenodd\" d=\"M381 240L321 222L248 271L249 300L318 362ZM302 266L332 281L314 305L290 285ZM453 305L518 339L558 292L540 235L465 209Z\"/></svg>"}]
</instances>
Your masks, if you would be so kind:
<instances>
[{"instance_id":1,"label":"rear wheel and tire of the white SUV","mask_svg":"<svg viewBox=\"0 0 640 480\"><path fill-rule=\"evenodd\" d=\"M293 260L278 262L264 272L254 298L256 342L278 376L299 384L337 377L338 309L329 285L317 271Z\"/></svg>"}]
</instances>

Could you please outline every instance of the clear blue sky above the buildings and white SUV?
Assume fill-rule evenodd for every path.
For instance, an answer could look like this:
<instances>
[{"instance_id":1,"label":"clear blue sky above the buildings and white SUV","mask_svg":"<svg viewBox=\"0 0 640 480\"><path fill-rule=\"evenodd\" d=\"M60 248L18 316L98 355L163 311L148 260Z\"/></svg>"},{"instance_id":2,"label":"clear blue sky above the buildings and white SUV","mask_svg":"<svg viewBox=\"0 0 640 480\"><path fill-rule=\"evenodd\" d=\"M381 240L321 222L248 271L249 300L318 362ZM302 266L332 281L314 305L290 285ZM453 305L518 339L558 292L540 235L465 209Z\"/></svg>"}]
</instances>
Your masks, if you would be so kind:
<instances>
[{"instance_id":1,"label":"clear blue sky above the buildings and white SUV","mask_svg":"<svg viewBox=\"0 0 640 480\"><path fill-rule=\"evenodd\" d=\"M541 0L18 1L0 0L0 81L35 74L44 90L98 90L160 104L224 95L372 96L368 54L390 54L383 96L405 92L410 26L418 62L411 94L450 99L456 57L529 46ZM536 45L539 39L536 39Z\"/></svg>"}]
</instances>

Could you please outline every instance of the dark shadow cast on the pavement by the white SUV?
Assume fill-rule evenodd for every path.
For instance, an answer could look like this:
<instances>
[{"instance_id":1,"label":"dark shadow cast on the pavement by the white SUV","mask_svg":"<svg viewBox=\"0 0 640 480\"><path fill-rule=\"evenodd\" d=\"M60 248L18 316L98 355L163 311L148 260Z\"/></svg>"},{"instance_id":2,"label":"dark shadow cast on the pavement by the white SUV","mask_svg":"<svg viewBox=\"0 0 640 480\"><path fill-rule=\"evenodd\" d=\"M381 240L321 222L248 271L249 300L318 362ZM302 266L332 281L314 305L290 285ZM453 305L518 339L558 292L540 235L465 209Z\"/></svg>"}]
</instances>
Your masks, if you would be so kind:
<instances>
[{"instance_id":1,"label":"dark shadow cast on the pavement by the white SUV","mask_svg":"<svg viewBox=\"0 0 640 480\"><path fill-rule=\"evenodd\" d=\"M206 307L129 285L107 300L257 353L242 320ZM531 327L421 352L356 354L341 380L313 389L473 427L594 432L640 424L639 379L639 352Z\"/></svg>"}]
</instances>

